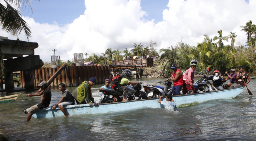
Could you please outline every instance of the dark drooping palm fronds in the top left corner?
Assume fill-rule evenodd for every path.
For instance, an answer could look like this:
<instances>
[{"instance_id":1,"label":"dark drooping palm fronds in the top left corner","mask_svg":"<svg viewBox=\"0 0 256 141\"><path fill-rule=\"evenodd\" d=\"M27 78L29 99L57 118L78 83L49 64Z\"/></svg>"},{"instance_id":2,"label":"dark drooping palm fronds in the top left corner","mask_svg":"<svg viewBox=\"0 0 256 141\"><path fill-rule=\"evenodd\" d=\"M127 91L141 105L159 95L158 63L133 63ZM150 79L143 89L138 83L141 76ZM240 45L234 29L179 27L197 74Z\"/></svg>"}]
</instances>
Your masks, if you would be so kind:
<instances>
[{"instance_id":1,"label":"dark drooping palm fronds in the top left corner","mask_svg":"<svg viewBox=\"0 0 256 141\"><path fill-rule=\"evenodd\" d=\"M11 5L16 6L17 9L23 9L28 6L33 11L30 0L4 0L0 3L0 24L2 25L2 30L11 33L13 36L17 36L21 31L24 31L27 40L29 40L31 37L29 25L22 18L21 13Z\"/></svg>"}]
</instances>

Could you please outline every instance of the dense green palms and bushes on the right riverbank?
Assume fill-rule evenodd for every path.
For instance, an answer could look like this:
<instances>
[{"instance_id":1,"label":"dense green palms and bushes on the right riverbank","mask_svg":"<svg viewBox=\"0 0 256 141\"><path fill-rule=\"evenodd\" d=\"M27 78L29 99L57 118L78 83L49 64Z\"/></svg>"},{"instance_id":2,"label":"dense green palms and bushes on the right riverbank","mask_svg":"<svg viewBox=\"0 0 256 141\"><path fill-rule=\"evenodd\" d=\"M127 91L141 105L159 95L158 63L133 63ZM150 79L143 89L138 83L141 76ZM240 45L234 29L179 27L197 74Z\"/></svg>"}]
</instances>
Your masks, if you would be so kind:
<instances>
[{"instance_id":1,"label":"dense green palms and bushes on the right riverbank","mask_svg":"<svg viewBox=\"0 0 256 141\"><path fill-rule=\"evenodd\" d=\"M235 47L235 32L230 32L230 35L223 36L222 30L218 31L219 36L215 36L214 40L218 40L214 43L212 39L205 35L205 38L201 43L198 43L197 47L191 47L190 45L183 43L182 40L177 42L174 49L175 60L177 66L182 66L185 71L190 67L190 61L192 59L198 60L197 71L205 72L206 66L209 66L210 72L212 73L214 69L218 69L224 74L228 68L238 68L239 66L244 66L245 70L249 73L255 73L256 71L256 54L255 54L255 25L252 25L249 21L246 26L241 26L243 31L247 32L248 36L248 47ZM250 29L250 30L249 30ZM255 36L249 36L255 35ZM231 39L230 45L224 45L223 40L227 41ZM218 44L218 45L217 45ZM168 58L166 75L172 73L171 64L174 63L172 52L170 49L161 49L160 52L164 52L161 55L161 59Z\"/></svg>"}]
</instances>

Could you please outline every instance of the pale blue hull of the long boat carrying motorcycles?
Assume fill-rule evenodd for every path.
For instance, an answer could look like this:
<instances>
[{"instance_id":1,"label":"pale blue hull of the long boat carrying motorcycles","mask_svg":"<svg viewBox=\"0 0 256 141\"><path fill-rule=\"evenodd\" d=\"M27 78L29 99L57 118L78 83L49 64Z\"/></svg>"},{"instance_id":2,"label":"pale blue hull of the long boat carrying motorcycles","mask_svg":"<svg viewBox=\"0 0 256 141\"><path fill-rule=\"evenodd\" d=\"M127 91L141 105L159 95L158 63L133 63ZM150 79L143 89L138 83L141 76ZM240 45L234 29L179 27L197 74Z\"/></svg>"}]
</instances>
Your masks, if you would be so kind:
<instances>
[{"instance_id":1,"label":"pale blue hull of the long boat carrying motorcycles","mask_svg":"<svg viewBox=\"0 0 256 141\"><path fill-rule=\"evenodd\" d=\"M195 94L185 94L179 96L173 96L174 102L177 107L185 107L190 105L195 105L198 103L206 102L215 99L233 99L243 92L243 87L225 89L219 91L211 91L205 93L195 93ZM114 102L114 103L104 103L99 105L93 105L89 107L89 104L81 105L69 105L65 106L67 114L70 116L79 114L99 114L99 113L109 113L120 110L130 110L138 108L161 108L163 105L158 103L159 98L151 99L141 99L133 100L127 102ZM162 100L165 100L163 98ZM29 110L29 109L26 109ZM42 109L34 114L34 118L45 118L45 117L55 117L64 116L59 108L52 110L52 107Z\"/></svg>"}]
</instances>

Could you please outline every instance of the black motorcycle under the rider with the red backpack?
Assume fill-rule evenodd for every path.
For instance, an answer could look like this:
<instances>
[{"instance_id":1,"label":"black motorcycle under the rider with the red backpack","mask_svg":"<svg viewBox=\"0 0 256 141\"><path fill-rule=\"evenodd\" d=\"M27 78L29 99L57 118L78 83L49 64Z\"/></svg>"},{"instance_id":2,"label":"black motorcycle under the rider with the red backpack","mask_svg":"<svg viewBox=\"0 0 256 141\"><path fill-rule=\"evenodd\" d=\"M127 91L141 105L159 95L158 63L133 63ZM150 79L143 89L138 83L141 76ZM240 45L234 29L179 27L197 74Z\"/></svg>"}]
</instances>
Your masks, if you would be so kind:
<instances>
[{"instance_id":1,"label":"black motorcycle under the rider with the red backpack","mask_svg":"<svg viewBox=\"0 0 256 141\"><path fill-rule=\"evenodd\" d=\"M141 84L128 85L127 88L128 94L126 96L126 99L135 100L136 97L139 97L141 95ZM101 100L98 103L112 103L123 101L123 93L121 92L109 89L103 89L102 92L104 95L102 95Z\"/></svg>"}]
</instances>

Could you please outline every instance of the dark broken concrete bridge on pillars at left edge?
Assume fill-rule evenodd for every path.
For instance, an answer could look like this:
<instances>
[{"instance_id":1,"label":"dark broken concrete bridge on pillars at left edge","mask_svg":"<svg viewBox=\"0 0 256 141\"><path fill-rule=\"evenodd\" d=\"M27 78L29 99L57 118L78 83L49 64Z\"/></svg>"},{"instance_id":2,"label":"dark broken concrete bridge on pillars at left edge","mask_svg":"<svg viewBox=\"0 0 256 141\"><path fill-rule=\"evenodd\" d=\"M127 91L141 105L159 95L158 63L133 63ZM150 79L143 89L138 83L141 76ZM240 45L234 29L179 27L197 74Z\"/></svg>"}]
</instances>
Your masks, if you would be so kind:
<instances>
[{"instance_id":1,"label":"dark broken concrete bridge on pillars at left edge","mask_svg":"<svg viewBox=\"0 0 256 141\"><path fill-rule=\"evenodd\" d=\"M14 89L13 72L24 71L25 89L34 89L33 70L43 66L39 55L34 55L38 48L37 42L8 40L0 37L0 49L4 55L5 63L5 89ZM26 57L23 57L26 56ZM1 78L0 88L3 89Z\"/></svg>"}]
</instances>

